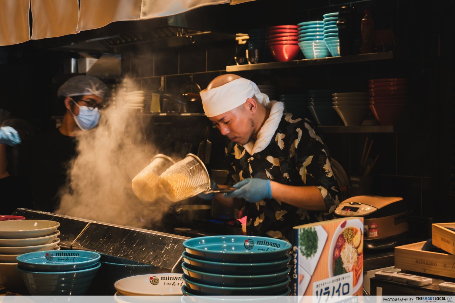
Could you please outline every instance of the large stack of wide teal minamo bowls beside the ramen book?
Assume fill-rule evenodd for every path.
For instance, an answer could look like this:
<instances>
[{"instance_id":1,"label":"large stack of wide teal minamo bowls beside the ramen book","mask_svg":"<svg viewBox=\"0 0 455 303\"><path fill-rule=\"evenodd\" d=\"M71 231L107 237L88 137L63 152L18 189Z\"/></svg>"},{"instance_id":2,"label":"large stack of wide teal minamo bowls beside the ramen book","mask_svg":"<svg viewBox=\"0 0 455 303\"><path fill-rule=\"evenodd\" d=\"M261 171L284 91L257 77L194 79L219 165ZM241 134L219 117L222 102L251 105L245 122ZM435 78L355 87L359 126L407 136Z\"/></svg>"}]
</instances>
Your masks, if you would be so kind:
<instances>
[{"instance_id":1,"label":"large stack of wide teal minamo bowls beside the ramen book","mask_svg":"<svg viewBox=\"0 0 455 303\"><path fill-rule=\"evenodd\" d=\"M255 236L211 236L183 242L185 295L288 295L286 241Z\"/></svg>"}]
</instances>

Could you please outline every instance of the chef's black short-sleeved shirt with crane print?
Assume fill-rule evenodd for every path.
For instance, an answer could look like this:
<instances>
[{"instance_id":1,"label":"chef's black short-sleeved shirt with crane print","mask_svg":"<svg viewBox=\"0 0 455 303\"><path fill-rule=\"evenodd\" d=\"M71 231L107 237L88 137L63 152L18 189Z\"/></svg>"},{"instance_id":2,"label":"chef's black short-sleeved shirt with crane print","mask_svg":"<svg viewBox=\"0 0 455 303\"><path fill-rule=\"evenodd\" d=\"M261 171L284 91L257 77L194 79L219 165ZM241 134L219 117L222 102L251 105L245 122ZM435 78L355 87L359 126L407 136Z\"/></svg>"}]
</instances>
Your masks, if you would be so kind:
<instances>
[{"instance_id":1,"label":"chef's black short-sleeved shirt with crane print","mask_svg":"<svg viewBox=\"0 0 455 303\"><path fill-rule=\"evenodd\" d=\"M316 186L329 214L339 204L339 189L327 147L319 129L307 119L284 113L273 139L263 151L250 155L242 145L229 142L225 152L230 185L247 178L260 178L293 186ZM248 235L290 242L293 242L294 226L326 218L324 212L299 209L275 199L246 203L245 208Z\"/></svg>"}]
</instances>

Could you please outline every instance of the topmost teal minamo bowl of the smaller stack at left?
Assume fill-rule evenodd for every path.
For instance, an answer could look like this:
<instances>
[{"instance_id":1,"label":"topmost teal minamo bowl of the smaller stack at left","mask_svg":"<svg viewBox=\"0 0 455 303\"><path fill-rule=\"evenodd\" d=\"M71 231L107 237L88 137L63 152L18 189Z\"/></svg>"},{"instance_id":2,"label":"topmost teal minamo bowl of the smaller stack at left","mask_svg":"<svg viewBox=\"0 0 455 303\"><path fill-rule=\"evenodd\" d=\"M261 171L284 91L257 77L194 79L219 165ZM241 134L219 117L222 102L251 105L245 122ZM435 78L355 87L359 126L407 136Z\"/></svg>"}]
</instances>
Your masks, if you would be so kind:
<instances>
[{"instance_id":1,"label":"topmost teal minamo bowl of the smaller stack at left","mask_svg":"<svg viewBox=\"0 0 455 303\"><path fill-rule=\"evenodd\" d=\"M39 272L64 272L94 266L99 253L85 250L45 250L24 253L16 258L20 268Z\"/></svg>"}]
</instances>

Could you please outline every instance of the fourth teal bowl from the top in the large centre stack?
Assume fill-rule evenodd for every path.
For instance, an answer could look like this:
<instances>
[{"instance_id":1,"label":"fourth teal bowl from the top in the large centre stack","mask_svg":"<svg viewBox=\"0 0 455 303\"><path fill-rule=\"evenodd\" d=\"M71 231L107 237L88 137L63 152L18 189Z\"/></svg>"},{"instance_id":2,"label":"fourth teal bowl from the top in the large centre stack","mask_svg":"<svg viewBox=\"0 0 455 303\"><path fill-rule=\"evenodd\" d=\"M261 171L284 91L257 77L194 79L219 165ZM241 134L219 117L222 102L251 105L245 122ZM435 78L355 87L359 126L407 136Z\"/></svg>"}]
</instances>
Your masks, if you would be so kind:
<instances>
[{"instance_id":1,"label":"fourth teal bowl from the top in the large centre stack","mask_svg":"<svg viewBox=\"0 0 455 303\"><path fill-rule=\"evenodd\" d=\"M288 284L291 281L291 279L288 277L283 281L270 281L271 283L262 286L226 287L197 283L186 274L182 275L182 280L187 288L212 296L272 295L274 293L284 291L284 289L288 287Z\"/></svg>"}]
</instances>

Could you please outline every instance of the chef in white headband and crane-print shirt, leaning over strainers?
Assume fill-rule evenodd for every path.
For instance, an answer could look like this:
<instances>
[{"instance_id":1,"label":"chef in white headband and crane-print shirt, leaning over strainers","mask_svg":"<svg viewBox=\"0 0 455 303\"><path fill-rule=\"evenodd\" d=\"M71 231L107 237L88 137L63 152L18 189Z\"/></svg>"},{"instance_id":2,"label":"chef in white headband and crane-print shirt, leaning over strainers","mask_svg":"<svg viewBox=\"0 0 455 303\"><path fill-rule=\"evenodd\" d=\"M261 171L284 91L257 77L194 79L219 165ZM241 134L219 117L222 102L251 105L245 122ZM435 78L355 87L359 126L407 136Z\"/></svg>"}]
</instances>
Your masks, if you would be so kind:
<instances>
[{"instance_id":1,"label":"chef in white headband and crane-print shirt, leaning over strainers","mask_svg":"<svg viewBox=\"0 0 455 303\"><path fill-rule=\"evenodd\" d=\"M213 79L201 98L208 119L230 139L228 185L236 190L199 197L234 208L245 204L248 235L291 243L293 226L324 220L335 210L339 189L313 123L286 113L282 102L238 75ZM212 182L211 189L222 187Z\"/></svg>"}]
</instances>

